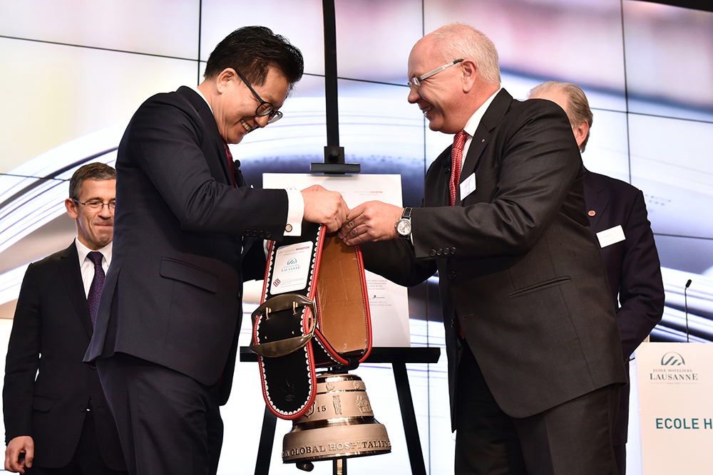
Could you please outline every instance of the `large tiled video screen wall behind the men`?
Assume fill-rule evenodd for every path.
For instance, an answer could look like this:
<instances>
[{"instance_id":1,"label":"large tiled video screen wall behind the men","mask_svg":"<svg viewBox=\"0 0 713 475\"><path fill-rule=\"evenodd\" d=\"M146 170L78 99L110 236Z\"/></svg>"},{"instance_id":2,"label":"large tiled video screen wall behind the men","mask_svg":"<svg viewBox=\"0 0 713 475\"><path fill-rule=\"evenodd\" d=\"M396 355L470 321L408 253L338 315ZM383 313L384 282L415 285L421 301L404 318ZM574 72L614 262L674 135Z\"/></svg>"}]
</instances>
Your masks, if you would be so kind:
<instances>
[{"instance_id":1,"label":"large tiled video screen wall behind the men","mask_svg":"<svg viewBox=\"0 0 713 475\"><path fill-rule=\"evenodd\" d=\"M579 85L594 123L585 166L645 194L666 291L654 340L713 340L713 13L630 0L337 0L340 145L363 173L399 173L404 204L419 206L426 169L452 137L431 132L406 101L416 41L459 21L498 48L503 87L524 99L545 80ZM319 0L0 0L0 353L28 263L76 236L63 200L86 162L113 165L136 108L155 93L197 85L212 48L261 24L298 46L305 75L284 118L232 154L248 182L263 172L309 171L324 160L324 37ZM170 166L170 162L167 163ZM685 314L684 285L687 291ZM255 302L247 301L241 345ZM409 289L411 344L443 347L437 281ZM687 316L687 318L686 318ZM687 322L686 322L687 320ZM404 432L389 365L356 371L386 424L389 455L352 470L403 473ZM445 354L410 365L426 467L452 473ZM223 409L220 474L252 473L262 396L255 363L237 365ZM279 459L272 473L296 473ZM327 462L313 473L331 473ZM361 472L359 472L361 473Z\"/></svg>"}]
</instances>

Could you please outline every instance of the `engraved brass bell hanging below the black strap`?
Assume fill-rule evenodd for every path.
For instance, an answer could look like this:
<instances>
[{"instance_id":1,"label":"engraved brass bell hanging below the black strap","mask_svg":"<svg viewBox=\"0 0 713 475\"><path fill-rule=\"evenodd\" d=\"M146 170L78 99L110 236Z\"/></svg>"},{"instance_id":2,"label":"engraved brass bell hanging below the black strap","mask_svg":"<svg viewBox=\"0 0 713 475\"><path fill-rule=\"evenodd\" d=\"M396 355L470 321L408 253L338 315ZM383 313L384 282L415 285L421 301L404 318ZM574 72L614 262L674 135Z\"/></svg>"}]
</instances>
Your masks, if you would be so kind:
<instances>
[{"instance_id":1,"label":"engraved brass bell hanging below the black strap","mask_svg":"<svg viewBox=\"0 0 713 475\"><path fill-rule=\"evenodd\" d=\"M309 470L311 462L391 451L386 427L374 419L361 378L350 374L317 375L317 395L304 416L282 439L282 462Z\"/></svg>"}]
</instances>

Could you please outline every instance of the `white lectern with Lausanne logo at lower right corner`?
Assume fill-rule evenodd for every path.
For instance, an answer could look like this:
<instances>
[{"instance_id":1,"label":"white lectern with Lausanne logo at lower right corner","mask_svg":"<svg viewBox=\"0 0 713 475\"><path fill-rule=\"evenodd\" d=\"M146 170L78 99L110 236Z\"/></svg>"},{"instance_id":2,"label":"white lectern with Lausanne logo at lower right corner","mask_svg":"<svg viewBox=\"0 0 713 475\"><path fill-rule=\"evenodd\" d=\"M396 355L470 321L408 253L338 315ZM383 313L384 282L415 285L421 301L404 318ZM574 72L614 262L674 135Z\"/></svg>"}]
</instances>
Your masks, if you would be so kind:
<instances>
[{"instance_id":1,"label":"white lectern with Lausanne logo at lower right corner","mask_svg":"<svg viewBox=\"0 0 713 475\"><path fill-rule=\"evenodd\" d=\"M713 473L713 345L642 343L636 364L642 473Z\"/></svg>"}]
</instances>

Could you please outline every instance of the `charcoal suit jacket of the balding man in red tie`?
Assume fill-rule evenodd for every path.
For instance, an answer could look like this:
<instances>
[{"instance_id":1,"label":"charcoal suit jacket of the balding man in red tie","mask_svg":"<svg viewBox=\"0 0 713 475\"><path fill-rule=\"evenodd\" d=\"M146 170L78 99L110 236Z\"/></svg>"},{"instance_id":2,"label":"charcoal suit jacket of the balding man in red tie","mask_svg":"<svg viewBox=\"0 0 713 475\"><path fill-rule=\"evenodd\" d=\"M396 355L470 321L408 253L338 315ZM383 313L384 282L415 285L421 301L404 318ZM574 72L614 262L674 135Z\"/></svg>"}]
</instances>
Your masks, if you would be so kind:
<instances>
[{"instance_id":1,"label":"charcoal suit jacket of the balding man in red tie","mask_svg":"<svg viewBox=\"0 0 713 475\"><path fill-rule=\"evenodd\" d=\"M461 182L475 172L476 190L458 195L454 207L450 169L448 147L426 175L424 206L413 211L413 246L394 240L362 251L366 268L404 285L438 271L451 410L460 351L454 314L512 417L625 382L615 309L585 213L584 167L563 111L501 90L463 162Z\"/></svg>"}]
</instances>

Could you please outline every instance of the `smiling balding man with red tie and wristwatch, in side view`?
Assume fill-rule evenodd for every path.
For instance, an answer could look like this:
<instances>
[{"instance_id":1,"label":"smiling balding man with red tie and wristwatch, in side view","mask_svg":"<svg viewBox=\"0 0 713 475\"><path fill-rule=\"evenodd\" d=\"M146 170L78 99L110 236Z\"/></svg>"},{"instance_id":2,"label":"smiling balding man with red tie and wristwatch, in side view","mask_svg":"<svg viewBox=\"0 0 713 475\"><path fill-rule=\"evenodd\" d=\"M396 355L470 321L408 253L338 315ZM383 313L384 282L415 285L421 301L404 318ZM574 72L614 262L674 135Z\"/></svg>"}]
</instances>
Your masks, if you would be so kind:
<instances>
[{"instance_id":1,"label":"smiling balding man with red tie and wristwatch, in side view","mask_svg":"<svg viewBox=\"0 0 713 475\"><path fill-rule=\"evenodd\" d=\"M409 102L456 134L421 208L367 202L340 236L403 285L438 271L456 474L615 474L626 381L584 169L563 111L513 100L483 33L454 24L409 56Z\"/></svg>"}]
</instances>

